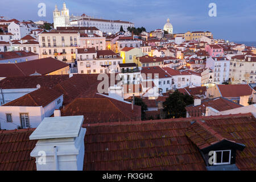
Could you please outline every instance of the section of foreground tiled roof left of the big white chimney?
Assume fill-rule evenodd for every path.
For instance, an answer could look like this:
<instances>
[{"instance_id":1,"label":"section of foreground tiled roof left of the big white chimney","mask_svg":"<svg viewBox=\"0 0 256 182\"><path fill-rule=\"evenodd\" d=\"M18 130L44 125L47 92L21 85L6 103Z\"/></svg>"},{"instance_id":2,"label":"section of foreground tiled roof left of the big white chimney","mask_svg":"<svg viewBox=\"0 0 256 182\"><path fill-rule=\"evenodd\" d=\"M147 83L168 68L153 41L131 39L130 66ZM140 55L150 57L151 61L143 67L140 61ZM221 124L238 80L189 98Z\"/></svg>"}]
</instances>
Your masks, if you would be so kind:
<instances>
[{"instance_id":1,"label":"section of foreground tiled roof left of the big white chimney","mask_svg":"<svg viewBox=\"0 0 256 182\"><path fill-rule=\"evenodd\" d=\"M28 138L34 130L0 130L0 171L36 170L30 152L37 141Z\"/></svg>"}]
</instances>

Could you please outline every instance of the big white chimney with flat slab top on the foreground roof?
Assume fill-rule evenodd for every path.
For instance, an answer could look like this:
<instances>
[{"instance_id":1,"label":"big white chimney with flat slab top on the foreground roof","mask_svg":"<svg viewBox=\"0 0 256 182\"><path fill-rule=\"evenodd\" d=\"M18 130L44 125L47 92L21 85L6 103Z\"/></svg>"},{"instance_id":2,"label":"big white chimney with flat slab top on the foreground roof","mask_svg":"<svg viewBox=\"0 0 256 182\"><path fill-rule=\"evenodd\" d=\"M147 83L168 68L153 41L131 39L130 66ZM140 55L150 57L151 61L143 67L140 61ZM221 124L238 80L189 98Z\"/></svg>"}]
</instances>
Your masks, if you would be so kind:
<instances>
[{"instance_id":1,"label":"big white chimney with flat slab top on the foreground roof","mask_svg":"<svg viewBox=\"0 0 256 182\"><path fill-rule=\"evenodd\" d=\"M38 140L30 153L37 171L82 171L84 165L84 116L44 118L30 140Z\"/></svg>"}]
</instances>

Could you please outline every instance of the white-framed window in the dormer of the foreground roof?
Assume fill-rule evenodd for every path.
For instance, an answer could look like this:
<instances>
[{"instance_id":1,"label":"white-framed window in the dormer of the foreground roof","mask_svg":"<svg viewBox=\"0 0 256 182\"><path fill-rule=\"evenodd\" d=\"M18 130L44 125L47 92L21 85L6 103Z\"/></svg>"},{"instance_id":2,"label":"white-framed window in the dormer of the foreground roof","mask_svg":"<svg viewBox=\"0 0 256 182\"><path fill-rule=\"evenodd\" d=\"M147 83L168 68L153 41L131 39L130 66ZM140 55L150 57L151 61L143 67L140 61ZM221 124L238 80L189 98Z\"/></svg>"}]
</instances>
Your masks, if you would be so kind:
<instances>
[{"instance_id":1,"label":"white-framed window in the dormer of the foreground roof","mask_svg":"<svg viewBox=\"0 0 256 182\"><path fill-rule=\"evenodd\" d=\"M231 158L231 150L214 151L213 164L214 165L230 164L230 158Z\"/></svg>"}]
</instances>

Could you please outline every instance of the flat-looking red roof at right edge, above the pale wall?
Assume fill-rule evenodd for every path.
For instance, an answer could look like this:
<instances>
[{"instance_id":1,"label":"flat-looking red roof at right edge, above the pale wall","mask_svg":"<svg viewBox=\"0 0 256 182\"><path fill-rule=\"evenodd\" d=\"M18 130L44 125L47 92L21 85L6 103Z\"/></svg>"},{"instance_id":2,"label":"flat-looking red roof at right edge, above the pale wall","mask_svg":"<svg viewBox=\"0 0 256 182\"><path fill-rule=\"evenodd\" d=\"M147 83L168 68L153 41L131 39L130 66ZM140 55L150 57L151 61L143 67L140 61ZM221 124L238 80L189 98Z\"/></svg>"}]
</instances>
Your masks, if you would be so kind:
<instances>
[{"instance_id":1,"label":"flat-looking red roof at right edge, above the pale wall","mask_svg":"<svg viewBox=\"0 0 256 182\"><path fill-rule=\"evenodd\" d=\"M253 89L247 84L238 85L217 85L222 97L240 97L249 96Z\"/></svg>"}]
</instances>

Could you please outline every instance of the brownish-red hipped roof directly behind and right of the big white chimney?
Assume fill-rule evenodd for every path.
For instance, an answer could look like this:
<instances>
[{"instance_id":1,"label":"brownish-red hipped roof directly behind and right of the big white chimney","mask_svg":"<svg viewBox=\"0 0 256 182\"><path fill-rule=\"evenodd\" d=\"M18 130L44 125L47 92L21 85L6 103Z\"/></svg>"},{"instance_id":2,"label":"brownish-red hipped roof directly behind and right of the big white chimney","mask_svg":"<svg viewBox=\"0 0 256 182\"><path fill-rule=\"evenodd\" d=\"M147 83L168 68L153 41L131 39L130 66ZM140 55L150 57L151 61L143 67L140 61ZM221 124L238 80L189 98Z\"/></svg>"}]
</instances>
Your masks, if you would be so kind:
<instances>
[{"instance_id":1,"label":"brownish-red hipped roof directly behind and right of the big white chimney","mask_svg":"<svg viewBox=\"0 0 256 182\"><path fill-rule=\"evenodd\" d=\"M76 98L61 110L61 115L84 115L84 123L107 123L141 120L140 106L109 98Z\"/></svg>"}]
</instances>

